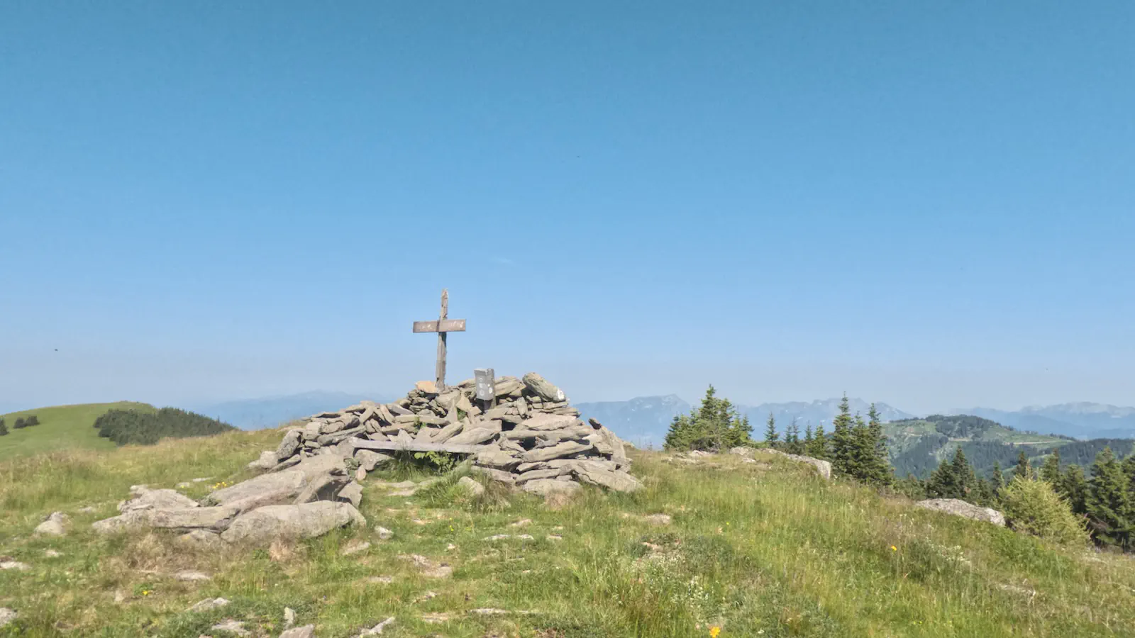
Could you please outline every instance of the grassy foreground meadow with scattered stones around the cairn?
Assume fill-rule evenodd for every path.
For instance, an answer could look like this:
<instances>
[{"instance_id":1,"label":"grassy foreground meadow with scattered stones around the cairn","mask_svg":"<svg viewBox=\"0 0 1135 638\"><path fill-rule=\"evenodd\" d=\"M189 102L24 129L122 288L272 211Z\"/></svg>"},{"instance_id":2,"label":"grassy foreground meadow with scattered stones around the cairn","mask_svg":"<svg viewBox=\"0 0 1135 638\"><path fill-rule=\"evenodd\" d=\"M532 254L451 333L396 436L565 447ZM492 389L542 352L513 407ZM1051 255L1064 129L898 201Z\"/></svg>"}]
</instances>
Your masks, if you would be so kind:
<instances>
[{"instance_id":1,"label":"grassy foreground meadow with scattered stones around the cairn","mask_svg":"<svg viewBox=\"0 0 1135 638\"><path fill-rule=\"evenodd\" d=\"M275 637L286 606L321 638L353 637L389 616L382 636L687 638L714 636L715 626L724 638L1135 636L1129 557L915 510L780 459L686 464L638 452L644 490L588 489L557 507L495 485L482 498L457 496L453 477L389 497L368 478L368 528L261 549L194 552L162 534L89 531L132 484L210 477L187 489L202 496L213 481L242 478L278 437L233 433L0 461L0 553L31 568L0 571L0 606L20 613L8 635L227 636L210 627L234 618ZM86 505L95 511L81 512ZM72 517L69 536L32 537L56 510ZM645 518L657 513L672 522ZM394 537L379 540L376 526ZM487 539L498 534L532 539ZM352 539L371 547L342 556ZM449 563L452 577L417 573L398 559L407 554ZM177 570L212 578L168 577ZM232 603L186 611L218 596ZM429 614L445 620L429 623Z\"/></svg>"}]
</instances>

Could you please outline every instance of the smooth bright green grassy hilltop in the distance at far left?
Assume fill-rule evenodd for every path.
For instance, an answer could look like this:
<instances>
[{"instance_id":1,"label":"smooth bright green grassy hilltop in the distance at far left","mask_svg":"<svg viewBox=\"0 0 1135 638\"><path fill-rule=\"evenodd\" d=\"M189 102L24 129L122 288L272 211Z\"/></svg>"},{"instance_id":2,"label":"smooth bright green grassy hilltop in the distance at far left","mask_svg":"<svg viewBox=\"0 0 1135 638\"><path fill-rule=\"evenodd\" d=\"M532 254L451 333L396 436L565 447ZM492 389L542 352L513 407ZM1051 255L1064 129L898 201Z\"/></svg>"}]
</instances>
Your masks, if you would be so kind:
<instances>
[{"instance_id":1,"label":"smooth bright green grassy hilltop in the distance at far left","mask_svg":"<svg viewBox=\"0 0 1135 638\"><path fill-rule=\"evenodd\" d=\"M143 410L153 411L152 405L119 401L118 403L81 403L77 405L57 405L25 410L10 414L0 414L8 423L8 436L0 437L0 460L39 454L54 450L90 448L110 450L115 444L100 438L94 429L94 420L108 410ZM35 414L40 425L31 428L14 429L16 419Z\"/></svg>"}]
</instances>

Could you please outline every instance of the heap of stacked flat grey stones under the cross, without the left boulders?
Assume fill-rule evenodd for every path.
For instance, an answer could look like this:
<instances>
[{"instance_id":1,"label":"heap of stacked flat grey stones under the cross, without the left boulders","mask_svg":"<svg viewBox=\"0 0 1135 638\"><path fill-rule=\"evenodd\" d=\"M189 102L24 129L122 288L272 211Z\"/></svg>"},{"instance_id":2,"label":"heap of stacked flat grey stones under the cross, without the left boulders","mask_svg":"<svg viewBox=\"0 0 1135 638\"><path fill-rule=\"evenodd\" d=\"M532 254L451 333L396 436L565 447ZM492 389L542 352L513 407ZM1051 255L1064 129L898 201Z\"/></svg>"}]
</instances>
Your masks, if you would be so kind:
<instances>
[{"instance_id":1,"label":"heap of stacked flat grey stones under the cross, without the left boulders","mask_svg":"<svg viewBox=\"0 0 1135 638\"><path fill-rule=\"evenodd\" d=\"M594 419L581 421L563 391L539 375L498 377L495 394L490 403L476 400L473 379L444 391L419 381L392 403L364 401L316 414L253 464L275 472L334 453L348 463L353 459L361 481L392 459L384 453L392 448L437 451L468 454L477 471L536 494L578 489L580 482L639 488L627 472L623 442ZM368 448L368 442L387 444L378 446L386 450Z\"/></svg>"}]
</instances>

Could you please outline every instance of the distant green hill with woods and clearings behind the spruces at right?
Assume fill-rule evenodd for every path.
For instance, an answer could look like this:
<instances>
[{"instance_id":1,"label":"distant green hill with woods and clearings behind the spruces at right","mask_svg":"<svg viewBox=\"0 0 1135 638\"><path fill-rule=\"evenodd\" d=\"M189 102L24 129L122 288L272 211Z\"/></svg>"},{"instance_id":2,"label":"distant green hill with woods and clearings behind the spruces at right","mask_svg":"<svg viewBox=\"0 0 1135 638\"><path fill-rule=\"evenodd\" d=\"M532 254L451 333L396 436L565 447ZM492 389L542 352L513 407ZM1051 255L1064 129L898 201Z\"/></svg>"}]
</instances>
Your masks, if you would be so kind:
<instances>
[{"instance_id":1,"label":"distant green hill with woods and clearings behind the spruces at right","mask_svg":"<svg viewBox=\"0 0 1135 638\"><path fill-rule=\"evenodd\" d=\"M1076 444L1068 437L1024 433L981 417L934 414L925 419L902 419L883 425L897 476L925 478L942 459L961 451L978 473L993 463L1002 468L1017 462L1022 451L1040 462L1056 447Z\"/></svg>"}]
</instances>

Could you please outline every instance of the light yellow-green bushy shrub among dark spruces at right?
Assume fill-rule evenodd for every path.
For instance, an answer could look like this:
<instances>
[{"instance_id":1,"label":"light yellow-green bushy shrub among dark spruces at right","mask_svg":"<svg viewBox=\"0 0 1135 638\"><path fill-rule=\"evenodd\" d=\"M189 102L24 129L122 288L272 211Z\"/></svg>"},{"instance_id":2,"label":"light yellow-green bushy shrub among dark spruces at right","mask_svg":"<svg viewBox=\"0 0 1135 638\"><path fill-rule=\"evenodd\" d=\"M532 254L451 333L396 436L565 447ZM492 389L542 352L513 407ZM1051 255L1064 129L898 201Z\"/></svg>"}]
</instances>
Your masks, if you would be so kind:
<instances>
[{"instance_id":1,"label":"light yellow-green bushy shrub among dark spruces at right","mask_svg":"<svg viewBox=\"0 0 1135 638\"><path fill-rule=\"evenodd\" d=\"M1001 493L1003 511L1016 531L1058 545L1087 543L1084 521L1048 481L1016 477Z\"/></svg>"}]
</instances>

